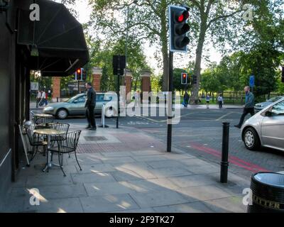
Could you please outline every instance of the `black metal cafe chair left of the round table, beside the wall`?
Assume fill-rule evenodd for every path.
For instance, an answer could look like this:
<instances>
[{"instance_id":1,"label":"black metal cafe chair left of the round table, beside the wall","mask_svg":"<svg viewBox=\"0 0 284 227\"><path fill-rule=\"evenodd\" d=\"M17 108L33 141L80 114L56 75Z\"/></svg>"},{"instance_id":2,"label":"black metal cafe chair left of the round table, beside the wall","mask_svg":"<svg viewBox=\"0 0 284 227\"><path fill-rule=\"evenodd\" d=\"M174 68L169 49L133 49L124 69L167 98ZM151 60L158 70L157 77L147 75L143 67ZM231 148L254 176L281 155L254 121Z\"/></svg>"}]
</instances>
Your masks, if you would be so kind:
<instances>
[{"instance_id":1,"label":"black metal cafe chair left of the round table, beside the wall","mask_svg":"<svg viewBox=\"0 0 284 227\"><path fill-rule=\"evenodd\" d=\"M35 157L36 153L38 153L38 147L43 146L43 153L45 153L45 150L48 147L48 142L44 140L44 138L37 134L33 133L35 130L35 126L33 125L26 125L26 134L28 135L28 141L30 142L30 145L33 147L33 150L30 151L31 153L31 159L30 162Z\"/></svg>"}]
</instances>

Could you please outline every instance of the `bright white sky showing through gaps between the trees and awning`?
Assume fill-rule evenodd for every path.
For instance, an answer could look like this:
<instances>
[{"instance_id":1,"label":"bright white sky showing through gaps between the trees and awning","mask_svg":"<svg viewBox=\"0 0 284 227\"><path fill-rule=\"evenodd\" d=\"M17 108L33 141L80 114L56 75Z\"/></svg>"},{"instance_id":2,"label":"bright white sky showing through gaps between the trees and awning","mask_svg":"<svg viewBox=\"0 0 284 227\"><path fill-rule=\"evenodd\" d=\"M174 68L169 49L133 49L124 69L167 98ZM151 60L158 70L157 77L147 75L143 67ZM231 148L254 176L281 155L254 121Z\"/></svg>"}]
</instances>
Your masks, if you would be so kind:
<instances>
[{"instance_id":1,"label":"bright white sky showing through gaps between the trees and awning","mask_svg":"<svg viewBox=\"0 0 284 227\"><path fill-rule=\"evenodd\" d=\"M76 1L76 9L79 13L78 21L80 23L86 23L89 20L89 17L91 15L91 9L88 7L88 1L87 0L77 0ZM189 50L194 51L195 50ZM157 67L158 62L155 60L154 57L155 48L149 48L147 43L144 45L144 53L146 55L146 59L148 64L155 70L155 74L159 74L162 72L162 69L159 69ZM174 60L174 67L187 67L187 64L189 61L195 60L194 58L189 59L187 55L183 58L184 60L178 58ZM219 63L222 59L222 55L217 52L213 47L209 49L209 60L211 62L217 62ZM205 65L205 62L202 62L202 70L206 69L207 65Z\"/></svg>"}]
</instances>

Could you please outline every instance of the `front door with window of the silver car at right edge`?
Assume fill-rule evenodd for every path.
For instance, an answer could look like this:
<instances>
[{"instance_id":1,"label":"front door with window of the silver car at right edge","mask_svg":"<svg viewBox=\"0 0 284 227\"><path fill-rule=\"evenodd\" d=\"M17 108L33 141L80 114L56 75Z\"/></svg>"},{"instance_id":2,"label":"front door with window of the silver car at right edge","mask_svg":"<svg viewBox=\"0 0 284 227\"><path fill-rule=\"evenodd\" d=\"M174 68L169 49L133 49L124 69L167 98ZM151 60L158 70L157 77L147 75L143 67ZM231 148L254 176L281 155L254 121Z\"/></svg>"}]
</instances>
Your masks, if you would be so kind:
<instances>
[{"instance_id":1,"label":"front door with window of the silver car at right edge","mask_svg":"<svg viewBox=\"0 0 284 227\"><path fill-rule=\"evenodd\" d=\"M284 149L284 100L274 104L261 123L263 145Z\"/></svg>"}]
</instances>

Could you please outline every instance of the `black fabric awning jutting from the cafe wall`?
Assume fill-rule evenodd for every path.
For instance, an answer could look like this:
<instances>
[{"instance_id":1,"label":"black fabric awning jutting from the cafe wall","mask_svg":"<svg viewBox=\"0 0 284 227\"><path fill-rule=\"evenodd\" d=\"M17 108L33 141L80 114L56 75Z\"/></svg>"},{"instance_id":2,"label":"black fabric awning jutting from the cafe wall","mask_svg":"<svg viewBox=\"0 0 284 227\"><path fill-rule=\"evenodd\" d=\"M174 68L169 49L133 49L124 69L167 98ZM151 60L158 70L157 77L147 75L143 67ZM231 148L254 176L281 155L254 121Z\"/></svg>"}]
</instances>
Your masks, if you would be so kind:
<instances>
[{"instance_id":1,"label":"black fabric awning jutting from the cafe wall","mask_svg":"<svg viewBox=\"0 0 284 227\"><path fill-rule=\"evenodd\" d=\"M43 76L68 76L86 65L89 52L82 25L64 4L35 3L40 6L40 21L31 21L31 11L25 9L19 10L18 18L18 44L31 51L31 70L40 70Z\"/></svg>"}]
</instances>

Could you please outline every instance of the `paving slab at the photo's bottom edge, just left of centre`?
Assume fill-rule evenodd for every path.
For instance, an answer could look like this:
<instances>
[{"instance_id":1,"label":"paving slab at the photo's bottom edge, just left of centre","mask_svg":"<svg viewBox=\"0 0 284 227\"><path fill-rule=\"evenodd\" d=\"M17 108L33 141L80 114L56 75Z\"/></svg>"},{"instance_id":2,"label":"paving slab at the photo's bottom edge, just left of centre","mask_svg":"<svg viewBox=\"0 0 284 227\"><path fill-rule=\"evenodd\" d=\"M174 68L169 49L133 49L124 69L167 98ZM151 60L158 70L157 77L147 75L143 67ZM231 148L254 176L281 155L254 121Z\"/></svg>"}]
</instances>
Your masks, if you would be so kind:
<instances>
[{"instance_id":1,"label":"paving slab at the photo's bottom edge, just left of centre","mask_svg":"<svg viewBox=\"0 0 284 227\"><path fill-rule=\"evenodd\" d=\"M90 196L80 198L84 212L116 212L139 209L129 194Z\"/></svg>"}]
</instances>

